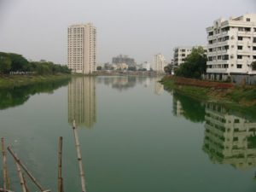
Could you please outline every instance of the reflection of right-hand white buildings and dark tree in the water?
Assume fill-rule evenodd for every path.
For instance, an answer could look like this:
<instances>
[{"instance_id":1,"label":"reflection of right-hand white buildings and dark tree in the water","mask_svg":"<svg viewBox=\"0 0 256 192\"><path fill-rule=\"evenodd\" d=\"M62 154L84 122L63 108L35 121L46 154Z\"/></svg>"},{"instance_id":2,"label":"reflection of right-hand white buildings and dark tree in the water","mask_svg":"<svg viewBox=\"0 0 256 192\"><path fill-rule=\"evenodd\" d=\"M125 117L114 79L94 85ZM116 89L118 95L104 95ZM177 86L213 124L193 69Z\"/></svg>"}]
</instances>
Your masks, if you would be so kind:
<instances>
[{"instance_id":1,"label":"reflection of right-hand white buildings and dark tree in the water","mask_svg":"<svg viewBox=\"0 0 256 192\"><path fill-rule=\"evenodd\" d=\"M256 120L216 103L197 101L172 90L172 113L204 122L203 151L213 163L236 169L256 167Z\"/></svg>"}]
</instances>

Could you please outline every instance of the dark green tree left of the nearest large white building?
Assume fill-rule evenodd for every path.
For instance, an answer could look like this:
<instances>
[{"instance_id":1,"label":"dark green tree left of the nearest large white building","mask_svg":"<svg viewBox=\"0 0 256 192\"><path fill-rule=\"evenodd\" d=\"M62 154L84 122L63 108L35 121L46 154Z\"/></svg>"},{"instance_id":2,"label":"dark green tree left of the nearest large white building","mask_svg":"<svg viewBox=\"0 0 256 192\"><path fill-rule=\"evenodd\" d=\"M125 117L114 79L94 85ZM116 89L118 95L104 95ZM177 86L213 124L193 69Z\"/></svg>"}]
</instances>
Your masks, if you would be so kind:
<instances>
[{"instance_id":1,"label":"dark green tree left of the nearest large white building","mask_svg":"<svg viewBox=\"0 0 256 192\"><path fill-rule=\"evenodd\" d=\"M201 79L201 75L207 71L207 55L202 47L193 48L190 55L185 61L175 70L175 75Z\"/></svg>"}]
</instances>

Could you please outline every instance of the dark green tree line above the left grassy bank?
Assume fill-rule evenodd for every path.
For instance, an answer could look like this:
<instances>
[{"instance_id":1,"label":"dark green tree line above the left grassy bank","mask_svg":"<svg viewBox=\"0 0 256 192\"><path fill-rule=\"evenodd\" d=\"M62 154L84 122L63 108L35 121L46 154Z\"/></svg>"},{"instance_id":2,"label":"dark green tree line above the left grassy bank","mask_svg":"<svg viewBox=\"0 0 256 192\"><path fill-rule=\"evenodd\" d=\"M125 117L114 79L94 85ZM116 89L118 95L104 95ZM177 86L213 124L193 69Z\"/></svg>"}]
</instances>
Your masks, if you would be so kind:
<instances>
[{"instance_id":1,"label":"dark green tree line above the left grassy bank","mask_svg":"<svg viewBox=\"0 0 256 192\"><path fill-rule=\"evenodd\" d=\"M67 66L50 61L27 61L15 53L0 52L0 74L33 73L38 75L71 73Z\"/></svg>"}]
</instances>

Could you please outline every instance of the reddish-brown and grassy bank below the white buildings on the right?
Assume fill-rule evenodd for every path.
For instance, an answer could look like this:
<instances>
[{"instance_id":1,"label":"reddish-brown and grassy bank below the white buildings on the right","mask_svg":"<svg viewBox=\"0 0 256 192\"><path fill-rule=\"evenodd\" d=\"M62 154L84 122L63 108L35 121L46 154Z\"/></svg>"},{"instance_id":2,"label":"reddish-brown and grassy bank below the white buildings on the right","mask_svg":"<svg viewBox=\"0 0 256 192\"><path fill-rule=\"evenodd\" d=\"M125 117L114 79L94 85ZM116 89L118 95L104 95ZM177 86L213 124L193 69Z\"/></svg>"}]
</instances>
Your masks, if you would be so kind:
<instances>
[{"instance_id":1,"label":"reddish-brown and grassy bank below the white buildings on the right","mask_svg":"<svg viewBox=\"0 0 256 192\"><path fill-rule=\"evenodd\" d=\"M176 90L184 95L206 102L256 108L256 86L235 85L197 79L166 76L161 81L165 90Z\"/></svg>"}]
</instances>

